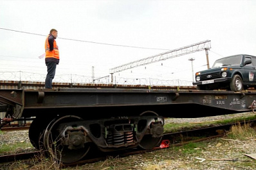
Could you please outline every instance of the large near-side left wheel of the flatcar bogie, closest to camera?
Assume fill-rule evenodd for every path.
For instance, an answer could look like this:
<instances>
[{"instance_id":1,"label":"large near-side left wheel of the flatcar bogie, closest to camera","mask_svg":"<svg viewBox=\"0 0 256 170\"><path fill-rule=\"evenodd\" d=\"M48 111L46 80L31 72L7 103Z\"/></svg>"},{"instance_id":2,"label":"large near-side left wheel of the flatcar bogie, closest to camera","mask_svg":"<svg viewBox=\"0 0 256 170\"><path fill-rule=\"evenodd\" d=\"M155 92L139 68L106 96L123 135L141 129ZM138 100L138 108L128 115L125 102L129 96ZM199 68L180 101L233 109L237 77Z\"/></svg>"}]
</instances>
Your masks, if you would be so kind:
<instances>
[{"instance_id":1,"label":"large near-side left wheel of the flatcar bogie, closest to camera","mask_svg":"<svg viewBox=\"0 0 256 170\"><path fill-rule=\"evenodd\" d=\"M64 117L57 117L53 119L44 133L44 148L50 155L62 163L73 163L81 160L88 153L90 146L85 144L83 147L77 149L69 149L69 145L64 144L65 137L63 136L64 129L59 129L61 123L71 123L79 121L82 118L75 115L66 115ZM79 139L74 139L78 142Z\"/></svg>"}]
</instances>

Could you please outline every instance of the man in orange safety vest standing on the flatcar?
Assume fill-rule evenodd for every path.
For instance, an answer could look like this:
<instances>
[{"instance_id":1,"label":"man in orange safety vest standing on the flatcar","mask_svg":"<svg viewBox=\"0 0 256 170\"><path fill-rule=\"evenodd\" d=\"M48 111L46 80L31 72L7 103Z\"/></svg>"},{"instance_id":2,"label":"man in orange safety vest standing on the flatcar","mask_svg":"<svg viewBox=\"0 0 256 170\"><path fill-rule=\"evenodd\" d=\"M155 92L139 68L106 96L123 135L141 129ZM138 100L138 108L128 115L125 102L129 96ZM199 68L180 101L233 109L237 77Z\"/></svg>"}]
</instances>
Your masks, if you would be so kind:
<instances>
[{"instance_id":1,"label":"man in orange safety vest standing on the flatcar","mask_svg":"<svg viewBox=\"0 0 256 170\"><path fill-rule=\"evenodd\" d=\"M59 64L59 47L55 39L57 38L58 31L51 29L50 34L45 40L45 63L47 66L47 75L45 79L45 89L52 89L52 80L55 76L56 65Z\"/></svg>"}]
</instances>

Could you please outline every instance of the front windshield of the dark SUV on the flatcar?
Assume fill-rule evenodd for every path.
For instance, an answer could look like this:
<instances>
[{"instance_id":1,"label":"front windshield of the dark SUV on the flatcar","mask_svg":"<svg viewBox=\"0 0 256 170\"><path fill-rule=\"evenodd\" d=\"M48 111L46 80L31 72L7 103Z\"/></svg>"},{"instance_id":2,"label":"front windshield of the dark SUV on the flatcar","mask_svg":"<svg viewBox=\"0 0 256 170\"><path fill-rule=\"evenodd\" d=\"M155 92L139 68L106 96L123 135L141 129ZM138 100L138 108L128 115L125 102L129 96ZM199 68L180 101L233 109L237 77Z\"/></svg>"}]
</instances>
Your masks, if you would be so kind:
<instances>
[{"instance_id":1,"label":"front windshield of the dark SUV on the flatcar","mask_svg":"<svg viewBox=\"0 0 256 170\"><path fill-rule=\"evenodd\" d=\"M241 64L241 60L242 60L242 55L221 58L214 62L214 65L212 65L212 68L223 67L228 65L239 65Z\"/></svg>"}]
</instances>

